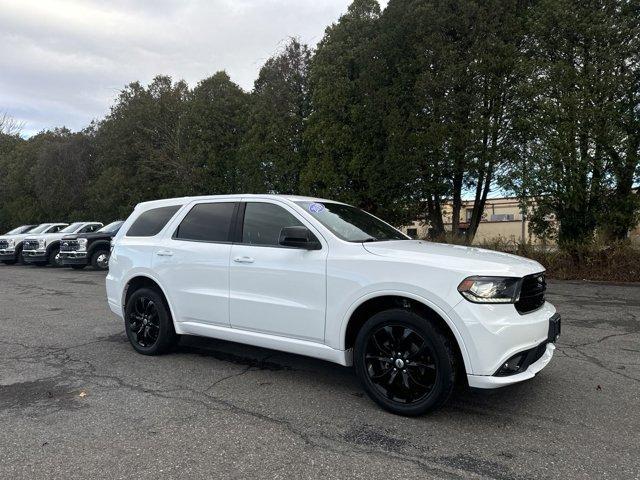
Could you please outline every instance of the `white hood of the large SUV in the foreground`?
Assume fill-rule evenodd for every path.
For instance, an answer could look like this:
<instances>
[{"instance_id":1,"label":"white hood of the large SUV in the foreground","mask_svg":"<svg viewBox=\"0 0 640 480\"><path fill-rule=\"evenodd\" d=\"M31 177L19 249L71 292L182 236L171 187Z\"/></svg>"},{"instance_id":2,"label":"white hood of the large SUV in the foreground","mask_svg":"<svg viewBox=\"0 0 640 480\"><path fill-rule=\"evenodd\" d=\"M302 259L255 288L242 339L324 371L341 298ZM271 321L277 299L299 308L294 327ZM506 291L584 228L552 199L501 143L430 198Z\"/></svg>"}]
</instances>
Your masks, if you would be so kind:
<instances>
[{"instance_id":1,"label":"white hood of the large SUV in the foreground","mask_svg":"<svg viewBox=\"0 0 640 480\"><path fill-rule=\"evenodd\" d=\"M535 260L476 247L464 247L424 240L368 242L362 246L382 257L397 258L435 268L445 268L471 275L523 277L544 271Z\"/></svg>"}]
</instances>

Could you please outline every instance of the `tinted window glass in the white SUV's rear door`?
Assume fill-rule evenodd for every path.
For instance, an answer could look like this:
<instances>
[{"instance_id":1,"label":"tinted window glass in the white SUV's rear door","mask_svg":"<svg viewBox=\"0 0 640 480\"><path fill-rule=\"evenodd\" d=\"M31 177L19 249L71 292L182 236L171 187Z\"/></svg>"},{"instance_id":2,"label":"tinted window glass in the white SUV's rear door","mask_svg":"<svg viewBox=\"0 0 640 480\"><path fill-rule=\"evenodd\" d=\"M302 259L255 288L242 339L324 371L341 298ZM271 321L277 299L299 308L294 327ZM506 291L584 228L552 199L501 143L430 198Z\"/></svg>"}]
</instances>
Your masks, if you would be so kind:
<instances>
[{"instance_id":1,"label":"tinted window glass in the white SUV's rear door","mask_svg":"<svg viewBox=\"0 0 640 480\"><path fill-rule=\"evenodd\" d=\"M234 202L199 203L182 219L173 238L201 242L228 242Z\"/></svg>"}]
</instances>

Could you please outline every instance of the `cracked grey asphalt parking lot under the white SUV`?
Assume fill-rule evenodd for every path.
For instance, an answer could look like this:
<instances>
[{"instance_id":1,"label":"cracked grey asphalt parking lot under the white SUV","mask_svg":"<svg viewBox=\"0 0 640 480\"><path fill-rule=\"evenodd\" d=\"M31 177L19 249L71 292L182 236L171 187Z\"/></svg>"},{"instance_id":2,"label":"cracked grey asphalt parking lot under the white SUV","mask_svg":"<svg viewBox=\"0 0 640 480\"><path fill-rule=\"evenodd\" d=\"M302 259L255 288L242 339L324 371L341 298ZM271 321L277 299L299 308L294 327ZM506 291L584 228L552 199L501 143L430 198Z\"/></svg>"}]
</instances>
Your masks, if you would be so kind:
<instances>
[{"instance_id":1,"label":"cracked grey asphalt parking lot under the white SUV","mask_svg":"<svg viewBox=\"0 0 640 480\"><path fill-rule=\"evenodd\" d=\"M640 285L553 282L549 367L402 418L318 360L138 355L103 281L0 265L0 478L640 478Z\"/></svg>"}]
</instances>

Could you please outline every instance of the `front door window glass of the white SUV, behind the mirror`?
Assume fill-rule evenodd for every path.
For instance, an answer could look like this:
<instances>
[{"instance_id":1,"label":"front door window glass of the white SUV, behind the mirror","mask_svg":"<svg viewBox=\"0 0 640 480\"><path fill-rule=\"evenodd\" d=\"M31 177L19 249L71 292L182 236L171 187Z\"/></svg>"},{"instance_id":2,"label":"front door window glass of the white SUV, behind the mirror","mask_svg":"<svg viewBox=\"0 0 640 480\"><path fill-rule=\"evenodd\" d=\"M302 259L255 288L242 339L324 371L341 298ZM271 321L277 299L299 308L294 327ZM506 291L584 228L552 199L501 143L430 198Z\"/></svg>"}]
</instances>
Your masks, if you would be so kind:
<instances>
[{"instance_id":1,"label":"front door window glass of the white SUV, behind the mirror","mask_svg":"<svg viewBox=\"0 0 640 480\"><path fill-rule=\"evenodd\" d=\"M284 208L273 203L247 203L242 227L242 243L249 245L279 245L284 227L302 223Z\"/></svg>"}]
</instances>

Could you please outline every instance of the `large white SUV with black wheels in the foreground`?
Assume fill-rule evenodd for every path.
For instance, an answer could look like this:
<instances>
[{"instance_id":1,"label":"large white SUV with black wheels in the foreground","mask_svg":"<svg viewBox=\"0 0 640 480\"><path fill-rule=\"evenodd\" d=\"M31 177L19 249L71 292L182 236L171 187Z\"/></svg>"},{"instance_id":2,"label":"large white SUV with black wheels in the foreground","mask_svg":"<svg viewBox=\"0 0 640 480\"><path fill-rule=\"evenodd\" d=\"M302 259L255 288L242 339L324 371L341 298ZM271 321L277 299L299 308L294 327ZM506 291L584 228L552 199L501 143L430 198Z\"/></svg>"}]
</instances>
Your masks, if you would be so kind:
<instances>
[{"instance_id":1,"label":"large white SUV with black wheels in the foreground","mask_svg":"<svg viewBox=\"0 0 640 480\"><path fill-rule=\"evenodd\" d=\"M543 272L411 240L343 203L231 195L139 204L106 286L140 353L202 335L353 364L378 404L419 415L457 378L495 388L549 362L560 318Z\"/></svg>"}]
</instances>

